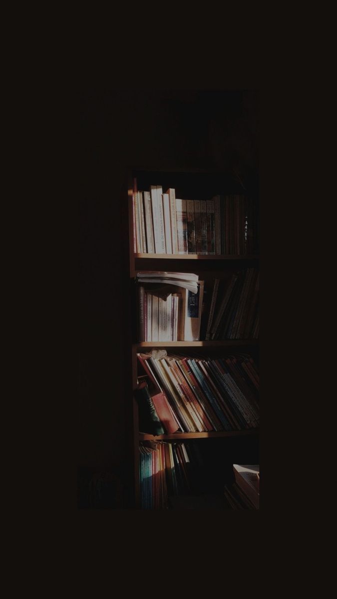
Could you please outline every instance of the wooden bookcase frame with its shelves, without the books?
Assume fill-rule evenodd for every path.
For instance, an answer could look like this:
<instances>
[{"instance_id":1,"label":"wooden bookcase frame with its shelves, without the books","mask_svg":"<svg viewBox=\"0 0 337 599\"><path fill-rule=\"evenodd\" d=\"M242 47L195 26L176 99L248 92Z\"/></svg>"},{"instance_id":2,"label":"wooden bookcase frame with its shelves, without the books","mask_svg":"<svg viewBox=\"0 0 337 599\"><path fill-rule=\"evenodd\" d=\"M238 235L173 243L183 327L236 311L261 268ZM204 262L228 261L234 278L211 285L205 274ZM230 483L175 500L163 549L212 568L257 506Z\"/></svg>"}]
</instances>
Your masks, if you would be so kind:
<instances>
[{"instance_id":1,"label":"wooden bookcase frame with its shelves, without the books","mask_svg":"<svg viewBox=\"0 0 337 599\"><path fill-rule=\"evenodd\" d=\"M243 192L242 187L226 173L215 173L213 171L189 170L140 170L133 169L127 176L127 201L122 195L122 239L123 253L125 257L125 289L127 294L124 304L124 320L127 323L125 331L125 418L127 428L128 449L128 507L140 509L140 441L155 440L195 440L197 443L223 443L235 438L237 442L246 439L255 440L255 453L257 447L258 429L250 428L233 431L205 431L205 432L174 432L170 434L152 435L139 432L139 406L134 391L137 389L139 365L137 364L137 352L149 352L152 348L166 348L168 353L174 351L191 349L194 354L219 355L223 350L228 352L246 352L258 362L257 338L224 339L224 340L199 340L199 341L139 341L137 337L137 294L134 280L139 271L171 271L198 274L199 280L213 280L231 273L237 268L258 268L258 231L255 238L254 252L242 255L219 254L163 254L135 252L134 248L134 206L133 192L134 179L137 179L137 189L148 190L152 184L161 184L163 190L173 187L176 196L190 199L212 198L218 193L244 193L249 196L249 201L254 205L258 219L258 191L255 181ZM125 193L125 192L124 192ZM227 276L227 275L226 275ZM206 317L204 315L204 317ZM198 441L198 440L202 441ZM209 441L208 441L209 440ZM248 446L249 448L249 446ZM252 458L256 462L256 456ZM234 460L234 461L239 461Z\"/></svg>"}]
</instances>

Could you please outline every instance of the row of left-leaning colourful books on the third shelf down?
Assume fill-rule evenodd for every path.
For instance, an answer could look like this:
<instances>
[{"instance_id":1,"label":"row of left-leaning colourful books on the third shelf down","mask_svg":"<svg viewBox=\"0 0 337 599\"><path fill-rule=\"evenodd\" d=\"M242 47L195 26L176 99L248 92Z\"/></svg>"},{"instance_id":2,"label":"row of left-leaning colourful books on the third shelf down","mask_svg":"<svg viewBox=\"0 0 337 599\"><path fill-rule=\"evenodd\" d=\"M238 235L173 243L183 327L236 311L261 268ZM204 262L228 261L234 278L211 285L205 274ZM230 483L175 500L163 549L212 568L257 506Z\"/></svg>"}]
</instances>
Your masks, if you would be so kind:
<instances>
[{"instance_id":1,"label":"row of left-leaning colourful books on the third shelf down","mask_svg":"<svg viewBox=\"0 0 337 599\"><path fill-rule=\"evenodd\" d=\"M137 353L140 432L258 428L259 377L251 356L200 358L166 350L154 356Z\"/></svg>"}]
</instances>

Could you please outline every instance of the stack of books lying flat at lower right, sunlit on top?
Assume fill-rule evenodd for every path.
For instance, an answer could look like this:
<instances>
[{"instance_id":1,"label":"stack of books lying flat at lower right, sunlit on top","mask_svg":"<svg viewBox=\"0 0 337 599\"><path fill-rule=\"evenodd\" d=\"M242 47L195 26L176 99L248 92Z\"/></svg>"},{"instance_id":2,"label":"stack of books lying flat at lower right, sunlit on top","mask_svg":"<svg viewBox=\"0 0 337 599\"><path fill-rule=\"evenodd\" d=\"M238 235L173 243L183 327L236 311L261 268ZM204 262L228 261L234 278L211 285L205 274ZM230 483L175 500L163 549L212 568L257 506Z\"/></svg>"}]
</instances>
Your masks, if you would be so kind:
<instances>
[{"instance_id":1,"label":"stack of books lying flat at lower right, sunlit on top","mask_svg":"<svg viewBox=\"0 0 337 599\"><path fill-rule=\"evenodd\" d=\"M228 506L234 510L258 510L260 500L260 467L233 464L235 482L224 489Z\"/></svg>"}]
</instances>

